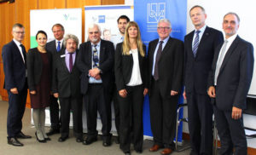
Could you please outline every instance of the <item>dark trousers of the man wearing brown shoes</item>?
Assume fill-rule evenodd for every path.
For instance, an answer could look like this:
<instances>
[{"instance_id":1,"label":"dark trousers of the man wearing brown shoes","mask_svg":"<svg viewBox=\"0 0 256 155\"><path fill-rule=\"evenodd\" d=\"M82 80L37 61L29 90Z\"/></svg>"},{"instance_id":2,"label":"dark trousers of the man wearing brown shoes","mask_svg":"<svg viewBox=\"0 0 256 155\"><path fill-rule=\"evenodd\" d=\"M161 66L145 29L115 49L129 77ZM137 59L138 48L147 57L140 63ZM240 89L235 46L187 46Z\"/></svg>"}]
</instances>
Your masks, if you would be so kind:
<instances>
[{"instance_id":1,"label":"dark trousers of the man wearing brown shoes","mask_svg":"<svg viewBox=\"0 0 256 155\"><path fill-rule=\"evenodd\" d=\"M152 79L149 95L150 122L154 144L174 149L178 95L160 94L160 84Z\"/></svg>"}]
</instances>

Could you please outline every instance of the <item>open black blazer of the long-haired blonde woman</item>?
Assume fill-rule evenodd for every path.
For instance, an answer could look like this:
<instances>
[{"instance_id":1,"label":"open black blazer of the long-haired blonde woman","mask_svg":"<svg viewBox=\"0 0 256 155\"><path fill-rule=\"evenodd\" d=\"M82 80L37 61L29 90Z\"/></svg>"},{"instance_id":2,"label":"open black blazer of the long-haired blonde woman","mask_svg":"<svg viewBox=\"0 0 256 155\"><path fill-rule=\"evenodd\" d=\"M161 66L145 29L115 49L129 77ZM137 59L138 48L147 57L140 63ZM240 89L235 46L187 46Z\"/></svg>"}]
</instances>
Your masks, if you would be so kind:
<instances>
[{"instance_id":1,"label":"open black blazer of the long-haired blonde woman","mask_svg":"<svg viewBox=\"0 0 256 155\"><path fill-rule=\"evenodd\" d=\"M125 85L131 80L133 58L132 55L122 55L123 43L118 43L114 55L114 74L115 83L118 90L125 89ZM146 46L143 44L145 56L140 55L138 51L139 67L141 78L145 88L148 88L148 62L146 57Z\"/></svg>"}]
</instances>

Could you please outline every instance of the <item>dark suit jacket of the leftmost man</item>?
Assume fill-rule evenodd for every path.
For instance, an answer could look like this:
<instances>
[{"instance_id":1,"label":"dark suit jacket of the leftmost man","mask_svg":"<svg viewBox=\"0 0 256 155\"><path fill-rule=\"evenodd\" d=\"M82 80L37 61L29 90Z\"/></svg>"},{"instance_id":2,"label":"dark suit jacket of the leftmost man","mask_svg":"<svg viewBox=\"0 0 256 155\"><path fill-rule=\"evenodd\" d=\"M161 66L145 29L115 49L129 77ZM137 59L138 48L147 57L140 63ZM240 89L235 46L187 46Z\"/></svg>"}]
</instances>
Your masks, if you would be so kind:
<instances>
[{"instance_id":1,"label":"dark suit jacket of the leftmost man","mask_svg":"<svg viewBox=\"0 0 256 155\"><path fill-rule=\"evenodd\" d=\"M24 89L26 85L26 65L15 42L5 44L2 49L4 89ZM25 58L26 60L26 55Z\"/></svg>"}]
</instances>

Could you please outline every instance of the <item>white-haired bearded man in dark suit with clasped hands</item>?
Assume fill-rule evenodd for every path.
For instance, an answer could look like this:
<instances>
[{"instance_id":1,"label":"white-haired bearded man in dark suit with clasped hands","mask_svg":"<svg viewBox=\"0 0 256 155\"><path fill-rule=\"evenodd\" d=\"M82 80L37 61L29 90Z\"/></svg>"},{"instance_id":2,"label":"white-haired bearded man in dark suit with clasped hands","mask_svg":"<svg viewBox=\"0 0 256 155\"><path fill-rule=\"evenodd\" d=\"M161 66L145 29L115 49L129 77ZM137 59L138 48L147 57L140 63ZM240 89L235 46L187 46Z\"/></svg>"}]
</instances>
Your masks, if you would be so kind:
<instances>
[{"instance_id":1,"label":"white-haired bearded man in dark suit with clasped hands","mask_svg":"<svg viewBox=\"0 0 256 155\"><path fill-rule=\"evenodd\" d=\"M101 39L101 29L92 24L88 29L90 41L79 48L78 67L81 75L81 92L87 118L88 136L84 145L97 140L97 111L102 119L103 146L111 145L110 92L113 89L113 43Z\"/></svg>"}]
</instances>

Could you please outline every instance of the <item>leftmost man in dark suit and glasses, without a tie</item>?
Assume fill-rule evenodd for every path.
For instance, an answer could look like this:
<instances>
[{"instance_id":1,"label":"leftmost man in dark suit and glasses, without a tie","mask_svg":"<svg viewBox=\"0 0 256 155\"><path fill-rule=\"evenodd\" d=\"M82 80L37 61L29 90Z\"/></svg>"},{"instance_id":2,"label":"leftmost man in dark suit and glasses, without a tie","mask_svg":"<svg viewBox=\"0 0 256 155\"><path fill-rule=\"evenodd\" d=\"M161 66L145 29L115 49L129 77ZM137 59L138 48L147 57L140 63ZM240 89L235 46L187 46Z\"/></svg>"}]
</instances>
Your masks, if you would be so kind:
<instances>
[{"instance_id":1,"label":"leftmost man in dark suit and glasses, without a tie","mask_svg":"<svg viewBox=\"0 0 256 155\"><path fill-rule=\"evenodd\" d=\"M26 107L27 82L26 82L26 49L21 44L25 37L25 28L17 23L13 26L14 39L5 44L2 49L4 89L9 96L7 116L8 144L23 146L17 138L31 138L21 132L22 118Z\"/></svg>"}]
</instances>

